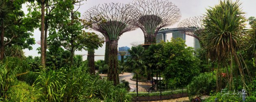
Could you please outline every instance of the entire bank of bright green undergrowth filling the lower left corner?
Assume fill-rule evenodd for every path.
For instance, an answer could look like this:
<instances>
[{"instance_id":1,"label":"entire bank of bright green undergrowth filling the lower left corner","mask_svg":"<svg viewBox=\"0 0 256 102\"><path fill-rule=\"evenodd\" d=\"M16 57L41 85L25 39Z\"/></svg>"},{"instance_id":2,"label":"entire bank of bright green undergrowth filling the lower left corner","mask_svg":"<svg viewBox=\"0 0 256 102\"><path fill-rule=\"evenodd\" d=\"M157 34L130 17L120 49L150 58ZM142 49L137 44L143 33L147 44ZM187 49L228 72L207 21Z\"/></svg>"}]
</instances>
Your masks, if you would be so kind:
<instances>
[{"instance_id":1,"label":"entire bank of bright green undergrowth filling the lower left corner","mask_svg":"<svg viewBox=\"0 0 256 102\"><path fill-rule=\"evenodd\" d=\"M63 67L32 72L26 60L0 62L0 101L11 102L129 102L127 84L113 85L88 74L87 67ZM31 86L32 85L32 86Z\"/></svg>"}]
</instances>

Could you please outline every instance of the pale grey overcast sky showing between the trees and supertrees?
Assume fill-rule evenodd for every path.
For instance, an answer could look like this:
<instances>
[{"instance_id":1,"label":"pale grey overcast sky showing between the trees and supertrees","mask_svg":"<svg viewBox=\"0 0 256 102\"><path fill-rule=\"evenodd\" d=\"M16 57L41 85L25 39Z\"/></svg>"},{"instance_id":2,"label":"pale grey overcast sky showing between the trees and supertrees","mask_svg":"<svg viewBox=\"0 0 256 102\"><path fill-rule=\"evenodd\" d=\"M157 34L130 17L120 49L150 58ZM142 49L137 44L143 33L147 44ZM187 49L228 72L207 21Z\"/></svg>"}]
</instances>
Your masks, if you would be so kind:
<instances>
[{"instance_id":1,"label":"pale grey overcast sky showing between the trees and supertrees","mask_svg":"<svg viewBox=\"0 0 256 102\"><path fill-rule=\"evenodd\" d=\"M235 1L235 0L233 0ZM246 17L251 17L254 16L256 17L256 0L239 0L242 5L242 9L246 14ZM132 0L87 0L85 2L83 2L84 4L79 8L79 12L81 14L83 14L87 9L98 5L98 4L104 4L104 3L117 3L117 2L121 2L124 4L128 4L129 2L132 2ZM194 17L194 16L199 16L202 15L206 12L206 8L213 7L216 4L219 3L219 0L169 0L169 2L174 3L176 6L178 6L178 8L180 8L182 17L182 19L186 19L189 17ZM23 5L23 11L25 11L25 13L27 13L27 8L26 8L26 4ZM179 23L179 22L178 22ZM169 26L166 28L177 28L177 24L174 24L173 26ZM95 32L95 31L92 31ZM100 34L99 32L96 32L98 34ZM36 41L40 40L40 31L37 29L35 30L35 32L33 32L34 34L34 38ZM167 34L167 40L171 39L171 34ZM130 31L130 32L126 32L124 33L119 41L118 41L118 47L124 47L124 46L128 46L131 47L132 45L130 45L130 43L132 42L143 42L144 41L144 37L143 37L143 32L141 29L137 29L134 31ZM193 37L191 36L187 36L186 37L186 44L188 46L193 47ZM36 51L36 49L40 47L40 45L35 44L33 45L33 50L28 50L25 49L25 55L32 55L32 56L40 56L39 54L37 54L38 51ZM105 53L105 44L103 45L103 47L99 48L98 50L95 51L95 55L104 55ZM84 55L87 54L87 51L76 51L75 52L76 55ZM87 58L87 56L85 55L83 57L83 59L85 60ZM104 60L104 56L95 56L95 60Z\"/></svg>"}]
</instances>

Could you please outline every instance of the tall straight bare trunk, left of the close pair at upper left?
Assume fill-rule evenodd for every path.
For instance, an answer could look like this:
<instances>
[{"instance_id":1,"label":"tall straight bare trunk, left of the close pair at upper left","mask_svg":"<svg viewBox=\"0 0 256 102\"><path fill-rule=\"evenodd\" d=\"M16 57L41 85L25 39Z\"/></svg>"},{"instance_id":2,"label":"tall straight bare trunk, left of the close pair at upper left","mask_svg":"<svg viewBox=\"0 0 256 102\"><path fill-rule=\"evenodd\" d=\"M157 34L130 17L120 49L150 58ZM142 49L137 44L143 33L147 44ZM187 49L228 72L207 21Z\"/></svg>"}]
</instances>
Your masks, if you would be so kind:
<instances>
[{"instance_id":1,"label":"tall straight bare trunk, left of the close pair at upper left","mask_svg":"<svg viewBox=\"0 0 256 102\"><path fill-rule=\"evenodd\" d=\"M41 65L43 68L46 68L46 56L45 56L45 47L44 47L44 5L45 0L41 0Z\"/></svg>"}]
</instances>

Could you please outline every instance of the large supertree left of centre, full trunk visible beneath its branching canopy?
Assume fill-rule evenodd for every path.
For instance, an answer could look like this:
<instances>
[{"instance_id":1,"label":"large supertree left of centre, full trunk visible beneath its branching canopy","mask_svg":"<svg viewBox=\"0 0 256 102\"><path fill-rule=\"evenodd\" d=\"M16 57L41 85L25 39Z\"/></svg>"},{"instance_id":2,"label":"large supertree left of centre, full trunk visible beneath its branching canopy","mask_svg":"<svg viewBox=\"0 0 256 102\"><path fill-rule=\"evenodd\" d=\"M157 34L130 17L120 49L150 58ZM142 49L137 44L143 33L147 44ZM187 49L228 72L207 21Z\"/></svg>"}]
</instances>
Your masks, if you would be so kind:
<instances>
[{"instance_id":1,"label":"large supertree left of centre, full trunk visible beneath its branching canopy","mask_svg":"<svg viewBox=\"0 0 256 102\"><path fill-rule=\"evenodd\" d=\"M117 72L117 41L124 33L137 28L132 23L132 14L134 10L130 6L121 3L102 4L94 6L87 10L83 19L90 21L91 18L102 17L101 22L92 23L91 29L101 32L109 42L108 53L108 80L113 81L115 85L119 83Z\"/></svg>"}]
</instances>

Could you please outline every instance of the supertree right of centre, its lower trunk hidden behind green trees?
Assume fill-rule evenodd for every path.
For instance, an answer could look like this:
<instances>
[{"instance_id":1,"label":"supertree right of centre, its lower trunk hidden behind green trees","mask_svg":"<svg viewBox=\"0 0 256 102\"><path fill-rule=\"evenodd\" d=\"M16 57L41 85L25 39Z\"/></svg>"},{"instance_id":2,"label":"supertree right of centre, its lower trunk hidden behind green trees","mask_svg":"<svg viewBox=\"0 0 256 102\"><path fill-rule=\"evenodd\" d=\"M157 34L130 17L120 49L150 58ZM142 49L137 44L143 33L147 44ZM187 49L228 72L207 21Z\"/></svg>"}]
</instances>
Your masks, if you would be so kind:
<instances>
[{"instance_id":1,"label":"supertree right of centre, its lower trunk hidden behind green trees","mask_svg":"<svg viewBox=\"0 0 256 102\"><path fill-rule=\"evenodd\" d=\"M146 45L156 43L157 32L181 17L180 9L168 0L134 0L129 6L135 11L133 24L143 31Z\"/></svg>"}]
</instances>

